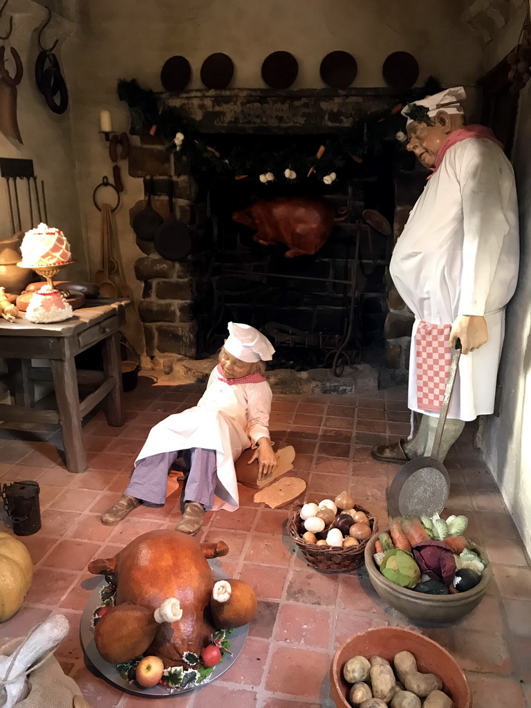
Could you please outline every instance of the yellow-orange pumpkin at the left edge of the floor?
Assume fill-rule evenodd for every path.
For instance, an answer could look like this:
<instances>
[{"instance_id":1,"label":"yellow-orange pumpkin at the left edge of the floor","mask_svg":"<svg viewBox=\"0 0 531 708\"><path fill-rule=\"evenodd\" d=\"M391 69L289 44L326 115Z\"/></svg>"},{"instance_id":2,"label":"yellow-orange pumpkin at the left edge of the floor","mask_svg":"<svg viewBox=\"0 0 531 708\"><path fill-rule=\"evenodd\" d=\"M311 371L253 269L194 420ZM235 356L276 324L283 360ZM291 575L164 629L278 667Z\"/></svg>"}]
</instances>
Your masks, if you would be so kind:
<instances>
[{"instance_id":1,"label":"yellow-orange pumpkin at the left edge of the floor","mask_svg":"<svg viewBox=\"0 0 531 708\"><path fill-rule=\"evenodd\" d=\"M13 617L22 605L32 578L28 549L10 534L0 532L0 622Z\"/></svg>"}]
</instances>

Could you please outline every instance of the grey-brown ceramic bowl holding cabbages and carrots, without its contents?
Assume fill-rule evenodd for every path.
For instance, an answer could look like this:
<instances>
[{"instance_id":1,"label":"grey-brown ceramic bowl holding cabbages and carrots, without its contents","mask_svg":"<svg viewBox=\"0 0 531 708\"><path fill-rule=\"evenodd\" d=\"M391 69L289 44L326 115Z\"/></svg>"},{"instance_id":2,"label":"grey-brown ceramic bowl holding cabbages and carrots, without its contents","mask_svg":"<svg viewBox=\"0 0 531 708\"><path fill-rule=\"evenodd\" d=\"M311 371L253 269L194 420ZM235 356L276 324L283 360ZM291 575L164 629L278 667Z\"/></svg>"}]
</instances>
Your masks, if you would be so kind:
<instances>
[{"instance_id":1,"label":"grey-brown ceramic bowl holding cabbages and carrots, without its contents","mask_svg":"<svg viewBox=\"0 0 531 708\"><path fill-rule=\"evenodd\" d=\"M486 566L479 584L472 590L467 590L466 593L424 595L423 593L416 593L409 588L401 588L399 585L387 580L375 564L376 541L377 537L373 536L365 547L365 567L369 573L372 587L375 588L382 600L385 600L388 605L391 605L395 610L410 619L416 619L418 622L435 622L437 624L455 622L457 619L461 619L464 615L472 612L481 603L489 588L492 578L490 564ZM481 556L481 552L479 552L479 555Z\"/></svg>"}]
</instances>

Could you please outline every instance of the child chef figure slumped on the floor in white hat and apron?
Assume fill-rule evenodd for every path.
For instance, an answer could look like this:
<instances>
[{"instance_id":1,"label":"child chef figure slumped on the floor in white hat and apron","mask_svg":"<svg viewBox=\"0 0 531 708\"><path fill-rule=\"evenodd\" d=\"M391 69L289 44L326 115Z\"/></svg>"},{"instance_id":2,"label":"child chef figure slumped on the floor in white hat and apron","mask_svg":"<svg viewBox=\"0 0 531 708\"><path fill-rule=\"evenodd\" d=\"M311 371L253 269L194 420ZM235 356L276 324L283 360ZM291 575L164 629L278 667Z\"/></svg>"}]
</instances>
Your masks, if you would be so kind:
<instances>
[{"instance_id":1,"label":"child chef figure slumped on the floor in white hat and apron","mask_svg":"<svg viewBox=\"0 0 531 708\"><path fill-rule=\"evenodd\" d=\"M263 375L263 362L274 352L257 329L229 322L229 338L205 394L197 406L150 430L125 493L101 515L101 523L118 523L142 502L164 504L168 473L178 458L189 472L177 531L195 535L205 509L235 511L239 504L234 462L241 452L256 448L249 464L258 459L258 479L276 466L269 436L273 394Z\"/></svg>"}]
</instances>

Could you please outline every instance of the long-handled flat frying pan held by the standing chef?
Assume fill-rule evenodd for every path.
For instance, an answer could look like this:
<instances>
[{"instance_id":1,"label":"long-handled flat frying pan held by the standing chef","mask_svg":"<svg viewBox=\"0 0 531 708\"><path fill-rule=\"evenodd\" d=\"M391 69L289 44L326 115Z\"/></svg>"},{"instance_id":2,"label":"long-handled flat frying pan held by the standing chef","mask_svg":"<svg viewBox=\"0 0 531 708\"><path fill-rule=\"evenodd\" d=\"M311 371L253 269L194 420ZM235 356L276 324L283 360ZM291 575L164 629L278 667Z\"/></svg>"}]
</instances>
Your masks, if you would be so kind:
<instances>
[{"instance_id":1,"label":"long-handled flat frying pan held by the standing chef","mask_svg":"<svg viewBox=\"0 0 531 708\"><path fill-rule=\"evenodd\" d=\"M440 514L445 508L450 493L450 477L444 464L439 461L438 455L460 356L461 342L458 339L450 365L450 374L446 382L445 395L442 399L430 457L411 459L396 475L387 492L389 516L431 517Z\"/></svg>"}]
</instances>

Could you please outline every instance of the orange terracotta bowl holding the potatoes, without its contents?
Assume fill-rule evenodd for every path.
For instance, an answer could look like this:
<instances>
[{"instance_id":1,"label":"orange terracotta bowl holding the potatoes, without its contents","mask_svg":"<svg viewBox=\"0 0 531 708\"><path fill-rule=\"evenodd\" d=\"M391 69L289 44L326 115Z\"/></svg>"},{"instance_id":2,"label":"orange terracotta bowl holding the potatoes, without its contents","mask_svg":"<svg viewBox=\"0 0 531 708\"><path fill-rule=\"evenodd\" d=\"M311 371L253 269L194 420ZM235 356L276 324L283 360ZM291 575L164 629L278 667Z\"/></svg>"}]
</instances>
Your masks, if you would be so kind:
<instances>
[{"instance_id":1,"label":"orange terracotta bowl holding the potatoes, without its contents","mask_svg":"<svg viewBox=\"0 0 531 708\"><path fill-rule=\"evenodd\" d=\"M353 656L382 656L392 664L399 651L411 651L421 673L434 673L442 680L442 690L454 708L471 708L472 694L459 664L446 649L423 634L400 627L376 627L347 639L333 656L330 667L330 692L338 708L351 708L350 685L343 678L343 666Z\"/></svg>"}]
</instances>

